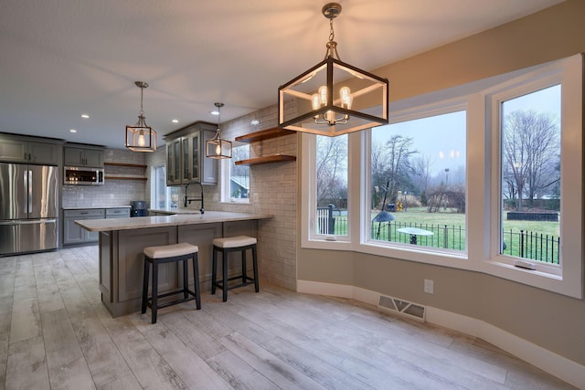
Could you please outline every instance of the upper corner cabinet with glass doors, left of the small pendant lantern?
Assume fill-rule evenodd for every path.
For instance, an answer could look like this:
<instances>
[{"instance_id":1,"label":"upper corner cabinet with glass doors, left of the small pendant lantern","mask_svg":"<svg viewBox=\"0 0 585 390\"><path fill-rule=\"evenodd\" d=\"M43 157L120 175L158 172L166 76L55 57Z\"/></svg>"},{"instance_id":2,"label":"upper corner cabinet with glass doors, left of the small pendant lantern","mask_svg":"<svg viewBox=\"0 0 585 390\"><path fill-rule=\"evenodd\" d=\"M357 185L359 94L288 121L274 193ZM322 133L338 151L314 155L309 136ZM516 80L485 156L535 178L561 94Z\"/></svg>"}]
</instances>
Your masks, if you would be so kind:
<instances>
[{"instance_id":1,"label":"upper corner cabinet with glass doors, left of the small pendant lantern","mask_svg":"<svg viewBox=\"0 0 585 390\"><path fill-rule=\"evenodd\" d=\"M217 124L197 121L165 135L166 185L218 183L218 161L205 155L205 142L217 128Z\"/></svg>"}]
</instances>

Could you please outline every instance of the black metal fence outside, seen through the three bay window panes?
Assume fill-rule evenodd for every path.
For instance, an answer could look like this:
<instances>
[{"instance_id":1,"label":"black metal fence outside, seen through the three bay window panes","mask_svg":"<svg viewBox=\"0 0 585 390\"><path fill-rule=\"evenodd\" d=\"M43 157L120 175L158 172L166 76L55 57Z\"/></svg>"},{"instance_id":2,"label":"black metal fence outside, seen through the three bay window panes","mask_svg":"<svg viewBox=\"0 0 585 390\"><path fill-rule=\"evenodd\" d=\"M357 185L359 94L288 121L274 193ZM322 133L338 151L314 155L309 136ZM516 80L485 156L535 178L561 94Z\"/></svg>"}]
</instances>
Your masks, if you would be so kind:
<instances>
[{"instance_id":1,"label":"black metal fence outside, seen through the three bay window panes","mask_svg":"<svg viewBox=\"0 0 585 390\"><path fill-rule=\"evenodd\" d=\"M346 235L347 216L334 216L334 207L319 208L317 210L318 234ZM399 229L414 227L424 230L425 235L413 235L400 232ZM399 242L431 248L442 248L452 250L465 249L465 227L448 225L431 225L392 222L372 222L370 237L380 241ZM546 235L537 232L520 230L515 232L512 229L503 233L504 244L502 253L518 258L529 258L549 264L560 263L560 237Z\"/></svg>"}]
</instances>

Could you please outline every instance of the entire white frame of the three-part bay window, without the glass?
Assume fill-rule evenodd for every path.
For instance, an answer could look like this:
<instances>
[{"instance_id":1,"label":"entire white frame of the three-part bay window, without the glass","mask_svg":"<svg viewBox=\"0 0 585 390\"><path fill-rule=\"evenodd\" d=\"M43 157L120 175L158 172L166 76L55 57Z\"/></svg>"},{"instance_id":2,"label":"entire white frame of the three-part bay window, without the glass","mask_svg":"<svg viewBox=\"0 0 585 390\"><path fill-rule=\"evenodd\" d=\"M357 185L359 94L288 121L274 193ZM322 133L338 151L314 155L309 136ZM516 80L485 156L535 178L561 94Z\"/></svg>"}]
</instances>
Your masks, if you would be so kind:
<instances>
[{"instance_id":1,"label":"entire white frame of the three-part bay window, without the glass","mask_svg":"<svg viewBox=\"0 0 585 390\"><path fill-rule=\"evenodd\" d=\"M499 153L495 150L495 146L499 144L499 135L495 133L494 127L497 124L499 128L499 109L495 117L495 111L492 110L495 104L493 99L499 98L498 94L510 93L514 89L542 89L547 84L552 85L555 78L561 84L561 265L552 266L552 269L550 265L544 264L537 270L520 269L502 261L503 257L499 254L501 180L500 158L495 158L495 153ZM368 130L349 134L347 195L350 220L347 240L341 242L318 239L321 237L310 234L314 227L314 201L311 194L315 191L315 151L314 142L311 142L312 135L302 134L301 247L353 250L383 258L467 269L582 299L583 56L579 54L561 58L528 69L393 102L390 118L392 122L398 119L404 121L420 115L422 111L430 115L463 103L467 106L467 253L437 252L430 250L431 248L399 247L396 244L390 247L368 240L371 144ZM351 206L353 200L359 202L357 207ZM556 271L558 275L551 271Z\"/></svg>"}]
</instances>

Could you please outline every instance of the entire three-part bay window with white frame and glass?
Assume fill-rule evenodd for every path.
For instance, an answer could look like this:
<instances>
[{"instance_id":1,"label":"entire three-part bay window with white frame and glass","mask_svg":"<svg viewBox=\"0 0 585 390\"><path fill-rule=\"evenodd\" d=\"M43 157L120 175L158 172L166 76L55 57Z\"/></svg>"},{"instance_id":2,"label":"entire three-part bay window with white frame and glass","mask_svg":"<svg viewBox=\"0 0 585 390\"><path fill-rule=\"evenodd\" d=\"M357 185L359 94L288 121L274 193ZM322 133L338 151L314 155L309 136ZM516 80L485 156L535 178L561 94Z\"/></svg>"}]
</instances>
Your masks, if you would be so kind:
<instances>
[{"instance_id":1,"label":"entire three-part bay window with white frame and glass","mask_svg":"<svg viewBox=\"0 0 585 390\"><path fill-rule=\"evenodd\" d=\"M396 101L392 124L338 143L302 134L302 247L471 269L582 298L582 62ZM340 231L334 199L344 197ZM317 214L329 204L335 227Z\"/></svg>"}]
</instances>

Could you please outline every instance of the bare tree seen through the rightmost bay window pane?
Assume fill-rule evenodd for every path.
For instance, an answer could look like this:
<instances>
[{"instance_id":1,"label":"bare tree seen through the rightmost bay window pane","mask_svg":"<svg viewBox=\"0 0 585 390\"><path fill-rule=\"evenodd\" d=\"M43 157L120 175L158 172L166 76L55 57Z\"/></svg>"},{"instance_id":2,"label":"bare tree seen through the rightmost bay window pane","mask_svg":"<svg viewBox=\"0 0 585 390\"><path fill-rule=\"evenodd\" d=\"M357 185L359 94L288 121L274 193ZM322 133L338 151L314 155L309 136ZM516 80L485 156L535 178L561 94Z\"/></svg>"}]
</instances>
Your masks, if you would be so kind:
<instances>
[{"instance_id":1,"label":"bare tree seen through the rightmost bay window pane","mask_svg":"<svg viewBox=\"0 0 585 390\"><path fill-rule=\"evenodd\" d=\"M532 200L547 190L558 158L558 124L548 113L513 111L505 116L503 174L508 195Z\"/></svg>"}]
</instances>

